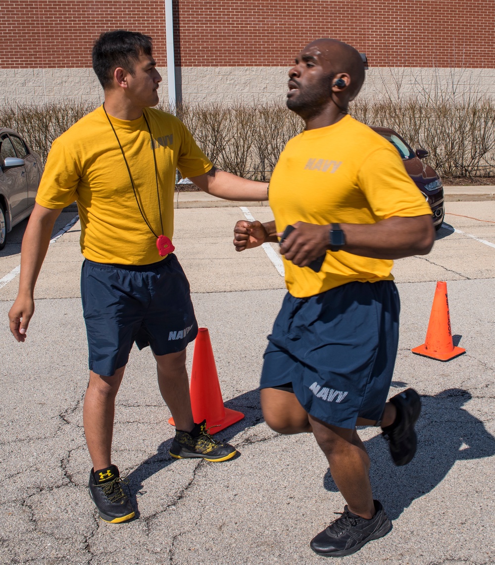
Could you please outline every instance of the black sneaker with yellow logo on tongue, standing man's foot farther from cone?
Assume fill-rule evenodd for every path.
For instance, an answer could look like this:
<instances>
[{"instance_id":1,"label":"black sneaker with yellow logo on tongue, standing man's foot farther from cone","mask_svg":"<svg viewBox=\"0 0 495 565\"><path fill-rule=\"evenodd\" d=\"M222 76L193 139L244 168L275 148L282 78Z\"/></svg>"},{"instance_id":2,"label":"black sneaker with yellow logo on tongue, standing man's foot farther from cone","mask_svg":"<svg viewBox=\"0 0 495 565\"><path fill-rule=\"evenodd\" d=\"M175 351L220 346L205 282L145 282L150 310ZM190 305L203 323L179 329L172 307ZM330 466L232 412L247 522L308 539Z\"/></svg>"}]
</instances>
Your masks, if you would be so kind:
<instances>
[{"instance_id":1,"label":"black sneaker with yellow logo on tongue, standing man's foot farther from cone","mask_svg":"<svg viewBox=\"0 0 495 565\"><path fill-rule=\"evenodd\" d=\"M98 477L94 476L93 470L89 473L89 496L98 509L99 517L112 524L134 518L131 501L120 486L122 483L126 484L127 481L120 479L119 470L115 465L108 468L107 473L111 473L114 478L108 480L110 475L107 475L108 478L103 479L102 477L102 482L99 482Z\"/></svg>"}]
</instances>

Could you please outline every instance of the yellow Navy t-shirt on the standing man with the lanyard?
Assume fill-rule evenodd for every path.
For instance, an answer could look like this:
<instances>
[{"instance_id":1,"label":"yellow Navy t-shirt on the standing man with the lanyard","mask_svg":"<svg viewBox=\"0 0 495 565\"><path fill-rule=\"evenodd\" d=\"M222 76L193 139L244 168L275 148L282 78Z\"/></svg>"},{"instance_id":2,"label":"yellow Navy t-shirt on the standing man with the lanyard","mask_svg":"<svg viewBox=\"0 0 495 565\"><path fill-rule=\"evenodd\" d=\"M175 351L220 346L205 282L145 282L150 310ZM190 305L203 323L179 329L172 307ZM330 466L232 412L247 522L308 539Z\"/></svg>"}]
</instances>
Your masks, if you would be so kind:
<instances>
[{"instance_id":1,"label":"yellow Navy t-shirt on the standing man with the lanyard","mask_svg":"<svg viewBox=\"0 0 495 565\"><path fill-rule=\"evenodd\" d=\"M175 116L145 109L157 158L163 235L173 236L175 171L183 177L208 172L212 164ZM162 235L150 133L143 116L112 118L131 169L137 198L157 236ZM53 142L36 202L63 208L77 202L81 251L97 263L146 265L160 259L157 238L138 208L129 173L105 111L97 108Z\"/></svg>"}]
</instances>

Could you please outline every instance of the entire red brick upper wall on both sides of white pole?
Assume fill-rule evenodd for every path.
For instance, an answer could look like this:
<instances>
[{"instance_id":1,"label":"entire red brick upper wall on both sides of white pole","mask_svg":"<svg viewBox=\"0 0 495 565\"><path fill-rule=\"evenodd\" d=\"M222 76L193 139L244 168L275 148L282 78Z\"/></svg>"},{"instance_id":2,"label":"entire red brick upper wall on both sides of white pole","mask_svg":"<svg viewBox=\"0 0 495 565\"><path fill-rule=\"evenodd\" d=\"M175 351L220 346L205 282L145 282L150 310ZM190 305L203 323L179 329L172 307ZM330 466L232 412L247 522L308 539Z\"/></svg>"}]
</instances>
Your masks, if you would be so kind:
<instances>
[{"instance_id":1,"label":"entire red brick upper wall on both sides of white pole","mask_svg":"<svg viewBox=\"0 0 495 565\"><path fill-rule=\"evenodd\" d=\"M0 67L90 67L93 41L150 34L166 66L163 0L0 0ZM495 67L494 0L175 0L176 60L194 66L289 66L317 37L364 51L372 66Z\"/></svg>"}]
</instances>

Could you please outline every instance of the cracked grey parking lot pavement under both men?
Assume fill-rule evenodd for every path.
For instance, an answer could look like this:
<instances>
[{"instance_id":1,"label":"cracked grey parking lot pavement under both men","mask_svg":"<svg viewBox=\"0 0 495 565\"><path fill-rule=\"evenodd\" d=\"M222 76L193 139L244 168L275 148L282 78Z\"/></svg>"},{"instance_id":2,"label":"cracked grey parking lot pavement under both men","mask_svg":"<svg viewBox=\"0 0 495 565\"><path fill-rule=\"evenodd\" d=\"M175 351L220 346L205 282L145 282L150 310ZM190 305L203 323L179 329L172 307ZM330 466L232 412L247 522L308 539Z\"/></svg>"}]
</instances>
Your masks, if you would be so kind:
<instances>
[{"instance_id":1,"label":"cracked grey parking lot pavement under both men","mask_svg":"<svg viewBox=\"0 0 495 565\"><path fill-rule=\"evenodd\" d=\"M266 206L243 206L271 218ZM134 348L116 402L114 463L128 477L137 518L99 520L82 429L88 370L79 223L50 246L28 338L18 344L7 312L23 222L0 251L0 563L324 562L309 541L344 501L314 438L271 431L259 408L262 354L283 279L264 249L233 249L232 228L246 210L177 208L173 241L199 325L210 330L225 405L245 414L218 435L240 455L224 463L168 455L174 432L153 357ZM344 564L495 563L495 201L451 201L446 211L432 252L401 259L393 271L402 313L390 395L413 386L422 396L418 453L394 467L377 429L362 429L375 498L393 529ZM54 235L74 216L64 212ZM448 281L454 341L466 349L448 363L410 352L424 342L437 280Z\"/></svg>"}]
</instances>

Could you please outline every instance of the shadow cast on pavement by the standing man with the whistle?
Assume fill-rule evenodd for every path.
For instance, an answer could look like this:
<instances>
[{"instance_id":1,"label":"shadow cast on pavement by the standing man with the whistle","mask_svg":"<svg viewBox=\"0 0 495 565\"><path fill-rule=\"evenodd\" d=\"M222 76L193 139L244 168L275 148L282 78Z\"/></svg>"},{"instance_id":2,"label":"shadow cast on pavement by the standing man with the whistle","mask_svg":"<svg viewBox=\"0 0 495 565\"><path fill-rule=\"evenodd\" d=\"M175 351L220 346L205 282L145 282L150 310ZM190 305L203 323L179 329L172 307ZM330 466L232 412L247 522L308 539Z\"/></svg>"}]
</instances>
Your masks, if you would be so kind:
<instances>
[{"instance_id":1,"label":"shadow cast on pavement by the standing man with the whistle","mask_svg":"<svg viewBox=\"0 0 495 565\"><path fill-rule=\"evenodd\" d=\"M214 435L214 437L223 442L230 442L233 437L238 433L244 431L246 428L251 428L256 424L263 421L263 415L259 403L259 390L254 389L240 394L239 396L225 401L225 406L231 408L232 410L238 410L244 414L244 418L223 429ZM175 435L175 434L174 434ZM146 479L149 479L155 473L158 473L162 469L168 467L172 463L176 462L177 459L171 457L168 454L168 450L172 444L173 436L168 440L164 441L158 446L157 453L151 455L143 461L139 467L134 469L132 473L129 473L127 480L129 481L129 490L131 492L131 502L134 509L137 509L138 503L136 501L136 496L139 496L140 490L143 488L143 483ZM237 459L240 455L232 458L231 461ZM228 464L228 462L225 462ZM225 464L224 463L224 464ZM139 516L139 511L136 511L136 518Z\"/></svg>"}]
</instances>

